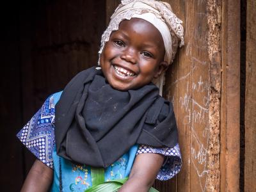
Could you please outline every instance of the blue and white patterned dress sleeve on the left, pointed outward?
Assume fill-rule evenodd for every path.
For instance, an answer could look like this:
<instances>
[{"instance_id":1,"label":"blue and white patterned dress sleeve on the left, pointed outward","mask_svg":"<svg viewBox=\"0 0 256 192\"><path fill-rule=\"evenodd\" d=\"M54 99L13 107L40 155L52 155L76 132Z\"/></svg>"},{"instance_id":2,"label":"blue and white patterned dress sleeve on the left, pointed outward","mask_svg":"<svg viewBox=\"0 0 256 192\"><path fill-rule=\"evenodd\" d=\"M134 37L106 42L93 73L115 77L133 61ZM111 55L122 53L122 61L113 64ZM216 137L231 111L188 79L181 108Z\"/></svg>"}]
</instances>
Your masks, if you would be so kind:
<instances>
[{"instance_id":1,"label":"blue and white patterned dress sleeve on the left, pointed outward","mask_svg":"<svg viewBox=\"0 0 256 192\"><path fill-rule=\"evenodd\" d=\"M55 143L54 116L54 101L51 95L17 134L17 138L25 147L50 168L53 168L52 152Z\"/></svg>"}]
</instances>

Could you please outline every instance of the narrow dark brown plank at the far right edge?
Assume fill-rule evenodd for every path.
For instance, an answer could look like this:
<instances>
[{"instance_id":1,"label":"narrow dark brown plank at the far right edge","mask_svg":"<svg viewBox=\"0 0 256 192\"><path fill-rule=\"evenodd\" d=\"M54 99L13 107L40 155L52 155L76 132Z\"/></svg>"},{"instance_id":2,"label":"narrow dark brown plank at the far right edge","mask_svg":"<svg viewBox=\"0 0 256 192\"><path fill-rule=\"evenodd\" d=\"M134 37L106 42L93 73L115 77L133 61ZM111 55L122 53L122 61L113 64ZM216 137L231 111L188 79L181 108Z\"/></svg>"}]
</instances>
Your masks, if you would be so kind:
<instances>
[{"instance_id":1,"label":"narrow dark brown plank at the far right edge","mask_svg":"<svg viewBox=\"0 0 256 192\"><path fill-rule=\"evenodd\" d=\"M256 1L247 0L244 191L256 191Z\"/></svg>"}]
</instances>

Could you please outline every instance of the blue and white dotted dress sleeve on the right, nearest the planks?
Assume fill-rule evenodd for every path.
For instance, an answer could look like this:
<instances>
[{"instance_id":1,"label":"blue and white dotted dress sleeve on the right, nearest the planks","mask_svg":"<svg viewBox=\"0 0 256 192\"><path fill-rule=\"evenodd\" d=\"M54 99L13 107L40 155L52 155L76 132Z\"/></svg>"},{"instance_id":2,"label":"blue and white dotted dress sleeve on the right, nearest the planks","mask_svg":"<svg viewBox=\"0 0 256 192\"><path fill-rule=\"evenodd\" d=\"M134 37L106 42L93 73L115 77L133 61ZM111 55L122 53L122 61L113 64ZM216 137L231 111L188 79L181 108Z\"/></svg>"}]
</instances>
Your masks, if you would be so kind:
<instances>
[{"instance_id":1,"label":"blue and white dotted dress sleeve on the right, nearest the planks","mask_svg":"<svg viewBox=\"0 0 256 192\"><path fill-rule=\"evenodd\" d=\"M165 156L164 163L161 166L159 173L157 173L156 179L168 180L180 172L182 161L178 143L172 148L156 148L148 145L140 145L136 155L147 153L162 154Z\"/></svg>"}]
</instances>

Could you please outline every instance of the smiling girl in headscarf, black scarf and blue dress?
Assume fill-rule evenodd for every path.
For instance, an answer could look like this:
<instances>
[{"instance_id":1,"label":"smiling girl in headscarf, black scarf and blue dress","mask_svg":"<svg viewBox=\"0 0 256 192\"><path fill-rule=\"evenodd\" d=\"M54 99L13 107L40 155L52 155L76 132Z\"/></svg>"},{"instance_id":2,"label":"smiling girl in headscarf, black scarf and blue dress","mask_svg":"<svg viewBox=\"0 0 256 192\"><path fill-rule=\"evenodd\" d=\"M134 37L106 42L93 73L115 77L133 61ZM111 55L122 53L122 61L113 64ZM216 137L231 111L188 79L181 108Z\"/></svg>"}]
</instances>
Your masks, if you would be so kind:
<instances>
[{"instance_id":1,"label":"smiling girl in headscarf, black scarf and blue dress","mask_svg":"<svg viewBox=\"0 0 256 192\"><path fill-rule=\"evenodd\" d=\"M181 23L167 3L122 1L100 67L77 74L17 134L37 157L22 191L148 191L179 172L172 104L159 93Z\"/></svg>"}]
</instances>

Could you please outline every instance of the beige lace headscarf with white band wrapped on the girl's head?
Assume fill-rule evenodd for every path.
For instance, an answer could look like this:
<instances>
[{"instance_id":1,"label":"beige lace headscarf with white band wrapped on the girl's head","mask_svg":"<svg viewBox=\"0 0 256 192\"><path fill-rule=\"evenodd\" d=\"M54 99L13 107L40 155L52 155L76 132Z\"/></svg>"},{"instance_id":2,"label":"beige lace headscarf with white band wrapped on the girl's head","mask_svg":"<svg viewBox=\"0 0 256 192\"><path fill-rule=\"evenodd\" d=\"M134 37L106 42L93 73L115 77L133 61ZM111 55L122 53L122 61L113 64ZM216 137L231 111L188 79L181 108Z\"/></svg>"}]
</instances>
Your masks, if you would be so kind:
<instances>
[{"instance_id":1,"label":"beige lace headscarf with white band wrapped on the girl's head","mask_svg":"<svg viewBox=\"0 0 256 192\"><path fill-rule=\"evenodd\" d=\"M164 61L170 65L175 58L177 47L184 45L182 20L172 12L170 4L155 0L121 1L111 16L108 28L102 35L99 58L105 43L109 40L111 32L118 30L118 26L122 20L130 20L132 18L147 20L159 30L164 41ZM162 95L164 74L154 79L153 82L158 86L159 94Z\"/></svg>"}]
</instances>

